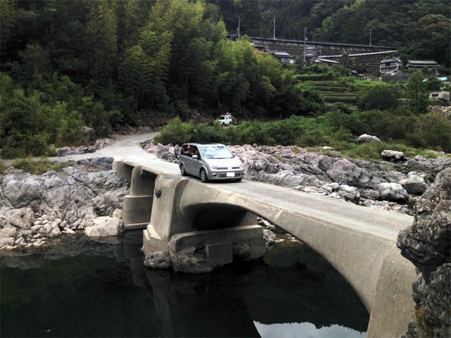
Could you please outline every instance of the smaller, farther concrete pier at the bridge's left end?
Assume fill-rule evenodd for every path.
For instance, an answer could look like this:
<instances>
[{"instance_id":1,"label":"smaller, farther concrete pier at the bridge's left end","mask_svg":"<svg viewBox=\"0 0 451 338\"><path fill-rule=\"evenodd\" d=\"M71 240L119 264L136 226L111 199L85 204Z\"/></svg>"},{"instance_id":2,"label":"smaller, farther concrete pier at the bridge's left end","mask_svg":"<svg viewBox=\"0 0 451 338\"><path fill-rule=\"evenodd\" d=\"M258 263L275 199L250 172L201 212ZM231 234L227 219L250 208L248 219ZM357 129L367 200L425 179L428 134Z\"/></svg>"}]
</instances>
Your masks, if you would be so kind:
<instances>
[{"instance_id":1,"label":"smaller, farther concrete pier at the bridge's left end","mask_svg":"<svg viewBox=\"0 0 451 338\"><path fill-rule=\"evenodd\" d=\"M142 229L150 221L156 175L137 165L132 169L130 178L130 195L124 197L122 219L125 230Z\"/></svg>"}]
</instances>

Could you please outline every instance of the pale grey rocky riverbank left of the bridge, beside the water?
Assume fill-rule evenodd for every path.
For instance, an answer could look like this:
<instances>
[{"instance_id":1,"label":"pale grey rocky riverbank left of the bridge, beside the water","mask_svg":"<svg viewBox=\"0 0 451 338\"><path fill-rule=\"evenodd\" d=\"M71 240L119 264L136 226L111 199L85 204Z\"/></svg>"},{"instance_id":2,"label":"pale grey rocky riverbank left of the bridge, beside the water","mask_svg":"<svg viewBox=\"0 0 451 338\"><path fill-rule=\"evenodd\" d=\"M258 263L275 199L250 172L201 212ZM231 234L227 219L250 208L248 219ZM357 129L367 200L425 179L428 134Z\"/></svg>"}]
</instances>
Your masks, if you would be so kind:
<instances>
[{"instance_id":1,"label":"pale grey rocky riverbank left of the bridge, beside the water","mask_svg":"<svg viewBox=\"0 0 451 338\"><path fill-rule=\"evenodd\" d=\"M46 246L76 230L90 236L122 232L130 182L111 171L112 163L91 158L43 175L8 168L0 177L0 249Z\"/></svg>"}]
</instances>

